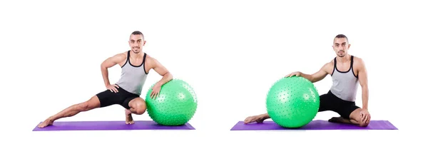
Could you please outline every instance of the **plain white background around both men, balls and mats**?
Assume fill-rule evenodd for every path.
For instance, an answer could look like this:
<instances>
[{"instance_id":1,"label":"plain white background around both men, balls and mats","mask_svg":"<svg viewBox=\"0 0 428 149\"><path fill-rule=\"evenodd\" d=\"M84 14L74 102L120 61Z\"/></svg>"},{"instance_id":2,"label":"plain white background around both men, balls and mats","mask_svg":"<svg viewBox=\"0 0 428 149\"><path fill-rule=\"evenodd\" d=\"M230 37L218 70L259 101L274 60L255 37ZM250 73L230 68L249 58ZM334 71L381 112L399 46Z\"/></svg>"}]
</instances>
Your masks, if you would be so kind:
<instances>
[{"instance_id":1,"label":"plain white background around both men, balls and mats","mask_svg":"<svg viewBox=\"0 0 428 149\"><path fill-rule=\"evenodd\" d=\"M2 145L33 148L373 148L423 143L427 104L426 4L414 1L14 1L0 4ZM32 132L37 123L104 91L100 64L129 49L143 51L190 83L196 130ZM315 73L334 58L345 34L350 54L369 76L372 120L398 131L230 131L265 113L265 96L292 71ZM121 70L108 70L111 83ZM148 87L161 79L151 71ZM315 83L327 93L331 78ZM358 88L357 105L361 105ZM319 113L315 119L337 114ZM135 120L150 120L147 113ZM124 120L110 106L61 120ZM218 139L218 140L215 140ZM409 140L410 143L405 143ZM225 145L223 143L230 143ZM375 143L370 145L370 143ZM62 147L58 147L61 145ZM416 146L415 146L416 147Z\"/></svg>"}]
</instances>

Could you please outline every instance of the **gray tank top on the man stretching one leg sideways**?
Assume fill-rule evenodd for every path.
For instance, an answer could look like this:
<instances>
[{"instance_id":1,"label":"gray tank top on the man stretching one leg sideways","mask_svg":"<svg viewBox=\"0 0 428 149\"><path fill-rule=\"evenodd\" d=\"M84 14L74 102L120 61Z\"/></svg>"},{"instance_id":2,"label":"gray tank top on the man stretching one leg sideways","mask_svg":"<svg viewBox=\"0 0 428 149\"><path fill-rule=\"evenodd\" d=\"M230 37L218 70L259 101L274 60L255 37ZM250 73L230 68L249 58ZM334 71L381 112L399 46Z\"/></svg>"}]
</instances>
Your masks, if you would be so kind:
<instances>
[{"instance_id":1,"label":"gray tank top on the man stretching one leg sideways","mask_svg":"<svg viewBox=\"0 0 428 149\"><path fill-rule=\"evenodd\" d=\"M131 51L128 51L126 62L122 66L121 78L116 85L123 88L125 91L135 93L140 96L148 75L144 67L144 62L146 62L146 53L144 53L143 62L136 66L129 61L130 52Z\"/></svg>"}]
</instances>

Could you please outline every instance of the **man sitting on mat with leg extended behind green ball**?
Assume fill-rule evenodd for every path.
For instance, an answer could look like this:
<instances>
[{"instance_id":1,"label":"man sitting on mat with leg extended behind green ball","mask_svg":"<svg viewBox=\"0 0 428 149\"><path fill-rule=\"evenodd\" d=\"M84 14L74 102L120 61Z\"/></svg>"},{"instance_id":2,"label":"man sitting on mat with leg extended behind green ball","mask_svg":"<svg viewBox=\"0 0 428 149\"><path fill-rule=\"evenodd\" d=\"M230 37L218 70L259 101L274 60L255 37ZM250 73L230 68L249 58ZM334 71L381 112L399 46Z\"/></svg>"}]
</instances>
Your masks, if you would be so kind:
<instances>
[{"instance_id":1,"label":"man sitting on mat with leg extended behind green ball","mask_svg":"<svg viewBox=\"0 0 428 149\"><path fill-rule=\"evenodd\" d=\"M302 76L315 83L329 74L332 76L333 84L328 93L320 96L319 112L335 111L338 113L340 117L328 120L332 123L350 123L366 127L370 123L370 113L368 111L369 89L365 63L362 58L347 53L351 46L347 36L342 34L335 36L333 44L332 47L337 56L332 61L325 63L320 71L311 75L297 71L285 77ZM362 88L362 108L355 106L359 82ZM253 115L246 118L244 123L263 123L263 120L267 118L270 118L267 113Z\"/></svg>"}]
</instances>

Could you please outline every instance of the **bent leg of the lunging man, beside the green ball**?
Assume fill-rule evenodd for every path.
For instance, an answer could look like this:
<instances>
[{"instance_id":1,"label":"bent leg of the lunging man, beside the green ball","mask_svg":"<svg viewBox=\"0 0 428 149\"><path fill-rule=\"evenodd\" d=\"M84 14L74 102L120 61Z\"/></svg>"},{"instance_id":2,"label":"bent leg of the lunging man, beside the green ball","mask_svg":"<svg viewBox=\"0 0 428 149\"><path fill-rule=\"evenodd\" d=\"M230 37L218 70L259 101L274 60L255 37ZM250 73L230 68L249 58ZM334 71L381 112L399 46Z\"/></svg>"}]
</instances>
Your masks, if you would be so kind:
<instances>
[{"instance_id":1,"label":"bent leg of the lunging man, beside the green ball","mask_svg":"<svg viewBox=\"0 0 428 149\"><path fill-rule=\"evenodd\" d=\"M146 112L146 101L143 98L129 98L123 103L125 107L125 118L126 124L133 124L133 118L131 114L142 115Z\"/></svg>"}]
</instances>

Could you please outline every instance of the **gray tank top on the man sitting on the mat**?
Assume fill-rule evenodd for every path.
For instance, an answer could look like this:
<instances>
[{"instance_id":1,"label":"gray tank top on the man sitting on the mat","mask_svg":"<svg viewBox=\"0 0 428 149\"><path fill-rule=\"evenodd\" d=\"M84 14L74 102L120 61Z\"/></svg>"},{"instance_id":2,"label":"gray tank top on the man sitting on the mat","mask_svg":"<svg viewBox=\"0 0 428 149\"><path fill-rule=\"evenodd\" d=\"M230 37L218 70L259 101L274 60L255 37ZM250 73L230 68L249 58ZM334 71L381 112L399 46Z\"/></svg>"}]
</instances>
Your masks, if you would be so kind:
<instances>
[{"instance_id":1,"label":"gray tank top on the man sitting on the mat","mask_svg":"<svg viewBox=\"0 0 428 149\"><path fill-rule=\"evenodd\" d=\"M354 74L354 56L351 56L351 66L347 71L339 71L336 67L336 58L335 58L335 68L332 73L333 85L330 88L330 91L335 94L335 96L341 98L345 101L355 101L355 96L357 95L358 89L358 76Z\"/></svg>"}]
</instances>

